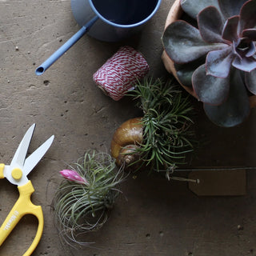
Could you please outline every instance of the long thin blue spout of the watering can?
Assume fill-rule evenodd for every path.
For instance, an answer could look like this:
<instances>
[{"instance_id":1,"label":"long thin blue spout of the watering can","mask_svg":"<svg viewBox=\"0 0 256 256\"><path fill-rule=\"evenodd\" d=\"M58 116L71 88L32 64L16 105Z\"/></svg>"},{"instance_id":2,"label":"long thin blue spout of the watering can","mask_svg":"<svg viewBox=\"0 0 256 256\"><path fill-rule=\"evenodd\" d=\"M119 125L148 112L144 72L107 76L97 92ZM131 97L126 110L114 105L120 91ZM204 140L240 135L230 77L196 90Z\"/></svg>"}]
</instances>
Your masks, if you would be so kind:
<instances>
[{"instance_id":1,"label":"long thin blue spout of the watering can","mask_svg":"<svg viewBox=\"0 0 256 256\"><path fill-rule=\"evenodd\" d=\"M78 32L74 34L67 42L65 42L64 45L58 48L58 50L56 50L54 54L50 55L50 57L47 58L46 61L43 62L41 66L38 66L38 68L35 70L35 74L37 75L43 74L51 65L54 64L54 62L58 60L58 58L60 58L63 54L65 54L66 51L69 50L71 46L74 46L74 44L78 42L78 40L82 38L82 36L86 34L88 30L90 30L91 26L93 26L94 22L96 22L97 20L98 20L98 16L95 16L89 22L87 22L86 25L82 26L82 28L78 30Z\"/></svg>"}]
</instances>

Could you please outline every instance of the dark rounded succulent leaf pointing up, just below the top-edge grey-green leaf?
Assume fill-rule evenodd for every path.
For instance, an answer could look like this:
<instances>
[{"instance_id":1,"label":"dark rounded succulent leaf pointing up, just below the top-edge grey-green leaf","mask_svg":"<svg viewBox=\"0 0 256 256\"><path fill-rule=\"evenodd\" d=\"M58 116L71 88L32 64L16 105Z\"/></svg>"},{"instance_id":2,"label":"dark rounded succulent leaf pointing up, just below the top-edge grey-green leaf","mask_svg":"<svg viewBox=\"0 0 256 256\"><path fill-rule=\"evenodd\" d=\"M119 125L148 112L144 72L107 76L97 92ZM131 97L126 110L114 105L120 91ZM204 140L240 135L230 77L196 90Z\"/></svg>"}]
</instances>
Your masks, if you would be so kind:
<instances>
[{"instance_id":1,"label":"dark rounded succulent leaf pointing up, just below the top-edge grey-green leaf","mask_svg":"<svg viewBox=\"0 0 256 256\"><path fill-rule=\"evenodd\" d=\"M216 7L206 7L198 14L198 28L201 36L206 42L225 42L222 39L224 18Z\"/></svg>"}]
</instances>

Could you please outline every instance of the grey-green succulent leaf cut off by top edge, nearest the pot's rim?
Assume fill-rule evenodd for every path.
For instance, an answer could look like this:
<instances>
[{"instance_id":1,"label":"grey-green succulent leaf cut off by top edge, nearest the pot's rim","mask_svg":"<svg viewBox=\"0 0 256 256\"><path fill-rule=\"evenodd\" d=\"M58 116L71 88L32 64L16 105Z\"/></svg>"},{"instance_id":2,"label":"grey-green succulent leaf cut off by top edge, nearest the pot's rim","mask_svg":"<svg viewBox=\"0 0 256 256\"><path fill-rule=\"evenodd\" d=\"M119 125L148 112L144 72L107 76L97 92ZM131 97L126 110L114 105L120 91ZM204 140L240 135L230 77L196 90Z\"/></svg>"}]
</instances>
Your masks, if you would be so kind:
<instances>
[{"instance_id":1,"label":"grey-green succulent leaf cut off by top edge, nearest the pot's rim","mask_svg":"<svg viewBox=\"0 0 256 256\"><path fill-rule=\"evenodd\" d=\"M207 6L215 6L219 9L218 0L200 0L197 2L194 2L194 0L181 0L181 6L182 10L194 19L196 19L198 13Z\"/></svg>"}]
</instances>

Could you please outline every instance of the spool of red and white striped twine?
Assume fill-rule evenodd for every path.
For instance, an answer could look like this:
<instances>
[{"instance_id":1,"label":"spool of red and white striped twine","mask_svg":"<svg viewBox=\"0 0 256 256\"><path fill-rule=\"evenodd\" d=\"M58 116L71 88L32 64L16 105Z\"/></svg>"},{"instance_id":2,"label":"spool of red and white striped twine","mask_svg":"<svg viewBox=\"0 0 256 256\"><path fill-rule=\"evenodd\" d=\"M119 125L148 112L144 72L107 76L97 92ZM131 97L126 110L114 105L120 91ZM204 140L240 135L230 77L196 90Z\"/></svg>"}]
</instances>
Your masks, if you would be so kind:
<instances>
[{"instance_id":1,"label":"spool of red and white striped twine","mask_svg":"<svg viewBox=\"0 0 256 256\"><path fill-rule=\"evenodd\" d=\"M115 101L121 99L134 83L150 70L146 59L130 46L122 46L94 73L94 82Z\"/></svg>"}]
</instances>

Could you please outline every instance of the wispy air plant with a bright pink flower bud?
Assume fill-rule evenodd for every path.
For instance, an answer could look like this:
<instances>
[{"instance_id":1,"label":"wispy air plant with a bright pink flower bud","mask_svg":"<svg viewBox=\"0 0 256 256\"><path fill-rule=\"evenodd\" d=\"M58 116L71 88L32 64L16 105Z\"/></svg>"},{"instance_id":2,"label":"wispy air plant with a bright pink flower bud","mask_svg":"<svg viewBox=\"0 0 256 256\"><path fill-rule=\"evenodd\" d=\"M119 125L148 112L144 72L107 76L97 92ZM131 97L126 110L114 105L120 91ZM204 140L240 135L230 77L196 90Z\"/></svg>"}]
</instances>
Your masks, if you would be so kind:
<instances>
[{"instance_id":1,"label":"wispy air plant with a bright pink flower bud","mask_svg":"<svg viewBox=\"0 0 256 256\"><path fill-rule=\"evenodd\" d=\"M83 234L100 229L107 221L124 180L110 154L88 151L70 170L54 197L54 221L62 242L87 246Z\"/></svg>"}]
</instances>

